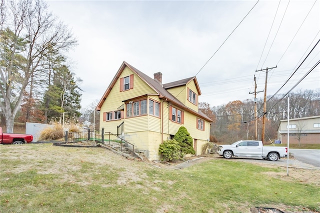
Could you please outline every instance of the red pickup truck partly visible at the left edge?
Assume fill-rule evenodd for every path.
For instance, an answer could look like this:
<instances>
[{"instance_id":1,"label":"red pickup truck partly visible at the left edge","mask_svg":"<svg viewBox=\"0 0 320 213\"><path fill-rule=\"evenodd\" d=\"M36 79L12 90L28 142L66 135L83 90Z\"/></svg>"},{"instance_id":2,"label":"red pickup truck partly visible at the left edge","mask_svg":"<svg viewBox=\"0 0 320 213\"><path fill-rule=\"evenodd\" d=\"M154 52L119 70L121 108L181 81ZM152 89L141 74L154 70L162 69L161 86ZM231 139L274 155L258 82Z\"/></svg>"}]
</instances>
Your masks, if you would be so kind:
<instances>
[{"instance_id":1,"label":"red pickup truck partly visible at the left edge","mask_svg":"<svg viewBox=\"0 0 320 213\"><path fill-rule=\"evenodd\" d=\"M30 143L32 140L31 134L5 133L0 127L0 144L23 144Z\"/></svg>"}]
</instances>

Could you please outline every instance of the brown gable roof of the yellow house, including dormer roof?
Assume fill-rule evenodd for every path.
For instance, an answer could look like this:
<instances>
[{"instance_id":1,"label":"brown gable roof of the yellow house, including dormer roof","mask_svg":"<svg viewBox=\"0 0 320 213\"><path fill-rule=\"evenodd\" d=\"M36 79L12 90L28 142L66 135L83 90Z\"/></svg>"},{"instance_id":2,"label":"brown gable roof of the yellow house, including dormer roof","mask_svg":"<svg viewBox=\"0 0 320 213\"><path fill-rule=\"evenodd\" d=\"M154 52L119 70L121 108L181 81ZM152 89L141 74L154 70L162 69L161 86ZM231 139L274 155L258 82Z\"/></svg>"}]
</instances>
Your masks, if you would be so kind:
<instances>
[{"instance_id":1,"label":"brown gable roof of the yellow house, including dormer roof","mask_svg":"<svg viewBox=\"0 0 320 213\"><path fill-rule=\"evenodd\" d=\"M197 112L188 108L187 106L185 106L181 101L179 101L176 97L174 97L170 92L168 92L165 88L162 87L162 84L159 83L159 81L154 80L153 78L149 77L148 75L144 74L143 72L141 72L140 70L136 69L135 67L131 66L130 64L128 64L127 62L123 61L120 68L118 69L118 71L116 72L115 76L113 77L112 81L110 82L109 86L107 87L107 89L105 90L102 98L100 99L100 101L98 102L98 105L96 106L96 110L100 110L101 106L104 102L104 100L106 99L106 97L108 96L108 94L110 93L112 87L114 86L115 82L117 81L117 79L119 78L121 72L124 70L125 67L130 68L133 72L135 72L142 80L144 80L144 82L146 84L148 84L155 92L156 94L159 96L159 98L165 99L169 102L172 102L174 105L179 106L180 108L185 109L186 111L189 111L193 114L196 114L197 116L212 122L212 120L206 116L204 113L202 113L200 110L198 110ZM185 85L186 83L188 83L189 81L194 80L195 85L197 86L198 92L200 92L200 89L198 88L198 83L196 81L195 76L194 77L190 77L190 78L185 78L182 80L178 80L178 81L174 81L172 83L167 83L169 84L170 88L174 87L174 86L178 86L179 85ZM168 85L167 85L168 86Z\"/></svg>"}]
</instances>

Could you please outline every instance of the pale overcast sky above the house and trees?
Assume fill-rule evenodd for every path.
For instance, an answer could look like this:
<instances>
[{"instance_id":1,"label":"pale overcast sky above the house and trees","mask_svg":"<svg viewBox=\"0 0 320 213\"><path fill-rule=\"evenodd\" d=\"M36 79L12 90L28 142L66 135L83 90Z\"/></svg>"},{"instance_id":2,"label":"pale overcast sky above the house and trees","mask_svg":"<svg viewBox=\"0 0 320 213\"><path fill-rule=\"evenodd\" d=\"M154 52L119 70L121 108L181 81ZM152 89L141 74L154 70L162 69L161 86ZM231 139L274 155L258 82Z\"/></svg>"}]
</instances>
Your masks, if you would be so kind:
<instances>
[{"instance_id":1,"label":"pale overcast sky above the house and trees","mask_svg":"<svg viewBox=\"0 0 320 213\"><path fill-rule=\"evenodd\" d=\"M100 100L123 61L152 78L161 72L162 83L196 76L199 101L218 106L253 99L266 68L267 95L310 71L320 59L319 1L50 0L48 9L78 41L67 57L83 80L82 107ZM319 67L292 92L319 89Z\"/></svg>"}]
</instances>

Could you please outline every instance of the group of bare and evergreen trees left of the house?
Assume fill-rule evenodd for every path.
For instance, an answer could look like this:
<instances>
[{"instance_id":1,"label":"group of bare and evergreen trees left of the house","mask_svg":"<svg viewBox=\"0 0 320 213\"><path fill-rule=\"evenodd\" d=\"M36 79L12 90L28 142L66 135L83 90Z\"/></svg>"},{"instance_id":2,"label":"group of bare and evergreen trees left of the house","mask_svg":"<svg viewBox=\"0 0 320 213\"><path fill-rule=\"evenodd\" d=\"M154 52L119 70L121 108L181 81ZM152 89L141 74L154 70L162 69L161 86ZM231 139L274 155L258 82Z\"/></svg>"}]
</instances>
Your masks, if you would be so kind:
<instances>
[{"instance_id":1,"label":"group of bare and evergreen trees left of the house","mask_svg":"<svg viewBox=\"0 0 320 213\"><path fill-rule=\"evenodd\" d=\"M0 118L13 123L80 115L80 78L65 56L77 40L42 0L0 2Z\"/></svg>"}]
</instances>

